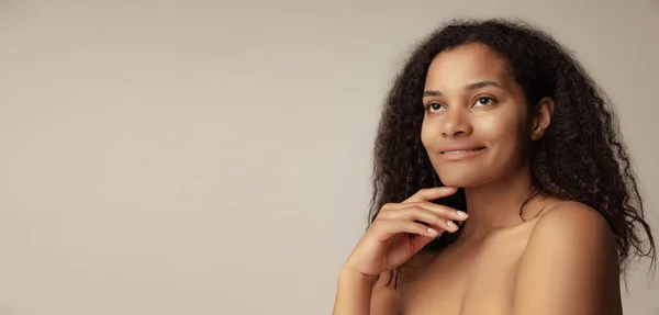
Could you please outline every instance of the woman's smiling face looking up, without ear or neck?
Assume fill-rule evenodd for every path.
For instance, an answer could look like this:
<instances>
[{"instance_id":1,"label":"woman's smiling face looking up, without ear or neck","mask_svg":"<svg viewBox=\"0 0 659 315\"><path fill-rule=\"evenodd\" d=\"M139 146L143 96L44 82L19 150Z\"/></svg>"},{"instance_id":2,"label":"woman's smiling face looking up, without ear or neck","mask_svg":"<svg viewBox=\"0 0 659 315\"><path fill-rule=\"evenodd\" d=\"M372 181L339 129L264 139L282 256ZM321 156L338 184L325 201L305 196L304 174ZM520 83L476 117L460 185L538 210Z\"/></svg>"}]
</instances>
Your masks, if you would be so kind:
<instances>
[{"instance_id":1,"label":"woman's smiling face looking up, without ear or neck","mask_svg":"<svg viewBox=\"0 0 659 315\"><path fill-rule=\"evenodd\" d=\"M438 54L423 105L421 139L445 185L477 187L523 167L530 142L524 93L487 46Z\"/></svg>"}]
</instances>

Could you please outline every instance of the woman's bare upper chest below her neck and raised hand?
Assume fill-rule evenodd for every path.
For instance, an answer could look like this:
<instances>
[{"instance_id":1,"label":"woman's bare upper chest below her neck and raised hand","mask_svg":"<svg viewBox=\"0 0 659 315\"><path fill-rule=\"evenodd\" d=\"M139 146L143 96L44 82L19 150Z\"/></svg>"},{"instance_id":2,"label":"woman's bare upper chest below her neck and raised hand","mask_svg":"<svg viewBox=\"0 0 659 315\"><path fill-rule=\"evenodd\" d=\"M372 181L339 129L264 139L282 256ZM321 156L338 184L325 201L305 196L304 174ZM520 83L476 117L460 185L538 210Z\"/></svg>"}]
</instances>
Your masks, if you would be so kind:
<instances>
[{"instance_id":1,"label":"woman's bare upper chest below her neck and raised hand","mask_svg":"<svg viewBox=\"0 0 659 315\"><path fill-rule=\"evenodd\" d=\"M513 230L447 248L413 281L401 283L405 315L510 314L517 262L528 235Z\"/></svg>"}]
</instances>

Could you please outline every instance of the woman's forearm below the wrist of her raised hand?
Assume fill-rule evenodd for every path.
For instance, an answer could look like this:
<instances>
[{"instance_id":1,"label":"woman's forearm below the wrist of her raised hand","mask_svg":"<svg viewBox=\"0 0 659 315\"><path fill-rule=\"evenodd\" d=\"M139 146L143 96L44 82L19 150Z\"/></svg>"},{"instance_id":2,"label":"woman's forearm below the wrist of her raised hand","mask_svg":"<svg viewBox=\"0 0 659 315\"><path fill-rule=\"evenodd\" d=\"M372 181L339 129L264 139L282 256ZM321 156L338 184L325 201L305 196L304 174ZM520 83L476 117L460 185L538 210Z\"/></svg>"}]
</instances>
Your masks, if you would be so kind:
<instances>
[{"instance_id":1,"label":"woman's forearm below the wrist of her raised hand","mask_svg":"<svg viewBox=\"0 0 659 315\"><path fill-rule=\"evenodd\" d=\"M370 315L376 277L342 270L338 277L333 315Z\"/></svg>"}]
</instances>

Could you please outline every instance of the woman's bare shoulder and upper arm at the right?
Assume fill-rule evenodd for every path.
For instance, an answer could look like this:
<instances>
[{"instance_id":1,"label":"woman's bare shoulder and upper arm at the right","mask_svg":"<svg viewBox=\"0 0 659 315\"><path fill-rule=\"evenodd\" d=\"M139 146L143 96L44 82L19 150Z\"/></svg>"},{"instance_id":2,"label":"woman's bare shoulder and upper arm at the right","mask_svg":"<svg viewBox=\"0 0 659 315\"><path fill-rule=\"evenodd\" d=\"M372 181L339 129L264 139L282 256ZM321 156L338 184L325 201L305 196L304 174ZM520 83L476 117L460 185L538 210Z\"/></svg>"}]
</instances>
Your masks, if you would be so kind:
<instances>
[{"instance_id":1,"label":"woman's bare shoulder and upper arm at the right","mask_svg":"<svg viewBox=\"0 0 659 315\"><path fill-rule=\"evenodd\" d=\"M539 218L520 261L513 314L622 314L615 237L578 203Z\"/></svg>"}]
</instances>

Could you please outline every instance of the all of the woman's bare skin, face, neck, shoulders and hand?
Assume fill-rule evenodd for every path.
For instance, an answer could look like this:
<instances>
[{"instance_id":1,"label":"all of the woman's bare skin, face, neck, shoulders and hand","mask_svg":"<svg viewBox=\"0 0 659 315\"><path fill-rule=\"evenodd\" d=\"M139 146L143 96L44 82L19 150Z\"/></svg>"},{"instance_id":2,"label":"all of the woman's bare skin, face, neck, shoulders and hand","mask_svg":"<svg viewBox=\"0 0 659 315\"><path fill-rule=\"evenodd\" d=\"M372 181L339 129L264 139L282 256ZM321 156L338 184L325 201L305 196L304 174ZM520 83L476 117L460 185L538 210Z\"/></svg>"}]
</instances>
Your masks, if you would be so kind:
<instances>
[{"instance_id":1,"label":"all of the woman's bare skin, face, neck, shoulders and hand","mask_svg":"<svg viewBox=\"0 0 659 315\"><path fill-rule=\"evenodd\" d=\"M443 183L465 189L469 217L429 202L454 188L384 205L340 271L334 315L622 314L615 237L601 214L539 195L518 215L527 150L550 125L552 100L529 111L503 60L479 44L437 55L420 98L422 143ZM445 155L458 146L482 150ZM456 243L418 252L456 232L449 221L465 222ZM393 290L389 271L405 262L415 271Z\"/></svg>"}]
</instances>

